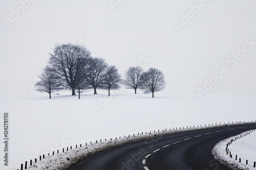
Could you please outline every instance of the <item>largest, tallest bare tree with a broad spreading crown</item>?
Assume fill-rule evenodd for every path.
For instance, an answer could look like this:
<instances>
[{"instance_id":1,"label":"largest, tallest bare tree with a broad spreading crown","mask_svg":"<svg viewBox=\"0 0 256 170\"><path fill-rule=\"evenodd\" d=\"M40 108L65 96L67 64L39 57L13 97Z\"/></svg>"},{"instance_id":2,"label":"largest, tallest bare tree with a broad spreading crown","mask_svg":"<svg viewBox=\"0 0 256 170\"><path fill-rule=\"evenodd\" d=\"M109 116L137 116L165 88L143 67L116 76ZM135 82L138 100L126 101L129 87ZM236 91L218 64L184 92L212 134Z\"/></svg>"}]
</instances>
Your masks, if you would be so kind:
<instances>
[{"instance_id":1,"label":"largest, tallest bare tree with a broad spreading crown","mask_svg":"<svg viewBox=\"0 0 256 170\"><path fill-rule=\"evenodd\" d=\"M56 45L50 55L50 64L63 82L63 87L71 88L72 95L76 95L81 69L86 66L90 51L82 45L68 43Z\"/></svg>"}]
</instances>

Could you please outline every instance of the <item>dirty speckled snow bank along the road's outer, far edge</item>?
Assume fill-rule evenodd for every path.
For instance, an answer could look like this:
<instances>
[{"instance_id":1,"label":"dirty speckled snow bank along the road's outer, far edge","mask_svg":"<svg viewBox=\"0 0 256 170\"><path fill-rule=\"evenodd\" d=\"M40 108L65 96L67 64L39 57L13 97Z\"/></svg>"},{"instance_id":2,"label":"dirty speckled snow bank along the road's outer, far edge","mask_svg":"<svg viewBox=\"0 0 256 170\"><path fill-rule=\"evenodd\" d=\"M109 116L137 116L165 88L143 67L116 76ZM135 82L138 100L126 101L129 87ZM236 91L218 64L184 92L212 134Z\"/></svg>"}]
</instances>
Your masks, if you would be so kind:
<instances>
[{"instance_id":1,"label":"dirty speckled snow bank along the road's outer, far edge","mask_svg":"<svg viewBox=\"0 0 256 170\"><path fill-rule=\"evenodd\" d=\"M37 163L33 163L32 166L28 165L27 169L65 170L65 169L68 169L72 164L92 154L95 154L97 152L107 150L110 148L118 147L123 144L151 139L155 137L166 136L170 134L184 133L184 132L197 131L197 130L203 130L203 129L211 129L211 128L217 128L217 127L220 128L220 127L226 127L226 126L244 125L244 124L250 124L250 123L224 124L224 125L217 125L217 126L214 125L214 126L208 126L208 127L167 130L167 131L156 132L156 133L147 133L147 134L144 133L144 134L139 134L135 136L126 136L126 137L124 136L120 139L117 138L116 140L102 141L98 143L91 143L88 145L83 144L81 148L80 146L78 146L77 149L72 149L64 153L59 153L55 155L49 155L45 159L42 159L41 161L37 161Z\"/></svg>"}]
</instances>

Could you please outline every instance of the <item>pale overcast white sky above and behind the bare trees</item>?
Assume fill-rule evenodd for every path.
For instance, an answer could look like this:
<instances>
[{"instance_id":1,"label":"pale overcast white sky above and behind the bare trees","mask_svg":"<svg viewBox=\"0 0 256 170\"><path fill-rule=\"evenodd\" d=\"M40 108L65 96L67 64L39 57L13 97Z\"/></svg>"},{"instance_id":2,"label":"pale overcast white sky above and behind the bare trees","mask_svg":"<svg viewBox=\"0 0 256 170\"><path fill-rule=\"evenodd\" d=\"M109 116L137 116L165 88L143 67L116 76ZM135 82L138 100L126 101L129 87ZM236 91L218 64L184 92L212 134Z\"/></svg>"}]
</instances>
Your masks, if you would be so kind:
<instances>
[{"instance_id":1,"label":"pale overcast white sky above and behind the bare trees","mask_svg":"<svg viewBox=\"0 0 256 170\"><path fill-rule=\"evenodd\" d=\"M161 69L168 93L197 93L226 65L229 71L208 93L256 94L256 44L246 45L236 65L227 61L242 52L245 39L256 42L256 1L205 0L195 16L190 6L200 1L113 0L115 10L109 0L22 2L30 1L0 2L1 96L31 95L28 85L55 44L79 43L79 36L92 56L120 74L138 64ZM191 19L178 32L174 22L187 14ZM145 56L151 60L140 62Z\"/></svg>"}]
</instances>

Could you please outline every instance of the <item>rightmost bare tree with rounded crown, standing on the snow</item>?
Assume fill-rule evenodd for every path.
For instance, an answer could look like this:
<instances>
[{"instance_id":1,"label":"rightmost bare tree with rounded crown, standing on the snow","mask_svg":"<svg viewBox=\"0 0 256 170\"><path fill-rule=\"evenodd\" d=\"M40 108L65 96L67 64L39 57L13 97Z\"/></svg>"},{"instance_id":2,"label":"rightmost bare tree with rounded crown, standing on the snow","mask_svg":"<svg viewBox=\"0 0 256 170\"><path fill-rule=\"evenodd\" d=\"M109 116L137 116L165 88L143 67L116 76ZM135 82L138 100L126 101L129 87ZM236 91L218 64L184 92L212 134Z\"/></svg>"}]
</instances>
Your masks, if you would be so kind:
<instances>
[{"instance_id":1,"label":"rightmost bare tree with rounded crown, standing on the snow","mask_svg":"<svg viewBox=\"0 0 256 170\"><path fill-rule=\"evenodd\" d=\"M152 98L154 98L154 92L163 90L165 88L165 80L163 72L157 68L150 68L143 74L143 87L145 91L152 92Z\"/></svg>"}]
</instances>

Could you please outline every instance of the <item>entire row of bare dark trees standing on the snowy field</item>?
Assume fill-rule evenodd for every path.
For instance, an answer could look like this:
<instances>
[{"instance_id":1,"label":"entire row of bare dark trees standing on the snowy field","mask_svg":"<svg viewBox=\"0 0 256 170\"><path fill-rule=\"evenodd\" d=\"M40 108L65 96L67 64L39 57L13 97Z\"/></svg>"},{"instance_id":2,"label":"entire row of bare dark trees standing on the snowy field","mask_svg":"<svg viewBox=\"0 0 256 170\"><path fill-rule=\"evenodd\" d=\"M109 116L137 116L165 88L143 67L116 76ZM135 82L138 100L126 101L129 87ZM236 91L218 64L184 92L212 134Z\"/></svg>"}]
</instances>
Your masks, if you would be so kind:
<instances>
[{"instance_id":1,"label":"entire row of bare dark trees standing on the snowy field","mask_svg":"<svg viewBox=\"0 0 256 170\"><path fill-rule=\"evenodd\" d=\"M60 44L56 45L50 53L49 64L44 68L35 89L40 92L51 93L58 90L71 89L72 95L84 90L94 89L119 89L121 84L125 88L154 92L165 87L164 75L156 68L143 71L142 67L129 67L124 74L124 79L118 74L116 66L109 65L102 58L94 58L89 50L82 45Z\"/></svg>"}]
</instances>

